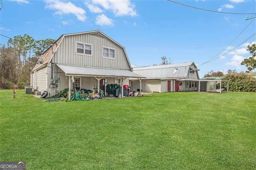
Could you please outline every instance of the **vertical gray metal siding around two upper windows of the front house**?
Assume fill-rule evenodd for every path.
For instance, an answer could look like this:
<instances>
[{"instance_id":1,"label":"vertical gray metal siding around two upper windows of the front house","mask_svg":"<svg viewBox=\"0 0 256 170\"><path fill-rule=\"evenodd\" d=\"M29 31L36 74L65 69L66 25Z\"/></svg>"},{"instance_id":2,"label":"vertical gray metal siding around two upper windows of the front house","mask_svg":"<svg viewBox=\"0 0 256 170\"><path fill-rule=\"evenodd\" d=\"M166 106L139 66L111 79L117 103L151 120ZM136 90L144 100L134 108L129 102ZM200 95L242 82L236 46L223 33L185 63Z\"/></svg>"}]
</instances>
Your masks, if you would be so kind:
<instances>
[{"instance_id":1,"label":"vertical gray metal siding around two upper windows of the front house","mask_svg":"<svg viewBox=\"0 0 256 170\"><path fill-rule=\"evenodd\" d=\"M92 56L76 54L76 41L92 44ZM102 46L116 49L116 58L102 58ZM65 36L56 51L55 62L63 65L130 70L125 51L121 46L108 38L102 38L91 34Z\"/></svg>"}]
</instances>

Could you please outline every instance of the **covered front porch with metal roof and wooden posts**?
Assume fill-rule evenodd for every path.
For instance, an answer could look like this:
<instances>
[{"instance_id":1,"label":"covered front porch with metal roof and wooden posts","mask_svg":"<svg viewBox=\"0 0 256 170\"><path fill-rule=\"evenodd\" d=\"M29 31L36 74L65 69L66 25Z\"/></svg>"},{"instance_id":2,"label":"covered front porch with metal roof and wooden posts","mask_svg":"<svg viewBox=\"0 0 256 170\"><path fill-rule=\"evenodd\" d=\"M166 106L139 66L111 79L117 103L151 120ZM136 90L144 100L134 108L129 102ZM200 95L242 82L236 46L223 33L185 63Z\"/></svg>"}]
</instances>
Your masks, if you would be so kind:
<instances>
[{"instance_id":1,"label":"covered front porch with metal roof and wooden posts","mask_svg":"<svg viewBox=\"0 0 256 170\"><path fill-rule=\"evenodd\" d=\"M144 78L139 74L129 70L109 69L109 68L89 68L81 66L60 65L58 67L64 72L68 79L68 98L71 96L71 88L75 86L76 91L81 88L88 90L102 90L108 96L107 85L117 84L121 87L121 97L124 97L124 85L129 85L129 78ZM141 83L140 83L141 84ZM140 91L141 92L141 91Z\"/></svg>"}]
</instances>

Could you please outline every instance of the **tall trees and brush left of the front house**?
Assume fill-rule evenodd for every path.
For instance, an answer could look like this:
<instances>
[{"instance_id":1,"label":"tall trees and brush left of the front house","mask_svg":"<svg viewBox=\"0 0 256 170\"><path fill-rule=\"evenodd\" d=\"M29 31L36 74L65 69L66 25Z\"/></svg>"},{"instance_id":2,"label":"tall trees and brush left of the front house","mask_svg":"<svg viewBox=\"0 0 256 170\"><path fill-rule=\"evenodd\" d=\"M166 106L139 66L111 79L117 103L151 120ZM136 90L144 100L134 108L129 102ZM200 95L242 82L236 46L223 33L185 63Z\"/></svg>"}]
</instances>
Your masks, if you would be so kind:
<instances>
[{"instance_id":1,"label":"tall trees and brush left of the front house","mask_svg":"<svg viewBox=\"0 0 256 170\"><path fill-rule=\"evenodd\" d=\"M55 40L35 40L24 34L9 39L0 45L0 88L23 88L30 84L30 74L38 57L49 48Z\"/></svg>"}]
</instances>

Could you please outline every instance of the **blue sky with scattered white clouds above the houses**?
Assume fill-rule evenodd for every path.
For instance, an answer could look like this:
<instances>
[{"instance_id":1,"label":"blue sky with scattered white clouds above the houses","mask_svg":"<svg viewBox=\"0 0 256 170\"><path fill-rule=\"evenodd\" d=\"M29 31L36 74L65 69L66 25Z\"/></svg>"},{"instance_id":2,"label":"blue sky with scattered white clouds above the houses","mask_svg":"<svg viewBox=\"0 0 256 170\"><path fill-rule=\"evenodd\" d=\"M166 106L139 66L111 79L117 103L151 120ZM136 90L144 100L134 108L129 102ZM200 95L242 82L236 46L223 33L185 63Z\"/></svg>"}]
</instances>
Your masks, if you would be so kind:
<instances>
[{"instance_id":1,"label":"blue sky with scattered white clouds above the houses","mask_svg":"<svg viewBox=\"0 0 256 170\"><path fill-rule=\"evenodd\" d=\"M256 13L255 0L183 0L198 8L232 13ZM61 34L101 30L125 47L132 65L193 61L203 77L208 71L246 71L240 62L256 36L220 57L256 32L255 20L225 48L256 15L221 14L167 0L2 0L0 34L29 34L35 40ZM7 38L0 36L0 43ZM216 54L218 59L201 65Z\"/></svg>"}]
</instances>

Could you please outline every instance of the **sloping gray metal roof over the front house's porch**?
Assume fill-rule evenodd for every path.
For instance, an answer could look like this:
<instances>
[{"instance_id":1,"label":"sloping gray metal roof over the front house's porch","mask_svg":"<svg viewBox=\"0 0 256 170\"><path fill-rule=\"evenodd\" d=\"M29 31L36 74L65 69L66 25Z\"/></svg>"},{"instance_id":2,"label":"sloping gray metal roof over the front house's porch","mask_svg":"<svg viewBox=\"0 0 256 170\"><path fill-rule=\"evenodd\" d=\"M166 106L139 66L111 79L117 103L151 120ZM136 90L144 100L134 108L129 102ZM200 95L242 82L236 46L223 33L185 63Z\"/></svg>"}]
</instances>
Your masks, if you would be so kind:
<instances>
[{"instance_id":1,"label":"sloping gray metal roof over the front house's porch","mask_svg":"<svg viewBox=\"0 0 256 170\"><path fill-rule=\"evenodd\" d=\"M145 78L134 71L118 70L109 68L91 68L79 67L72 65L57 64L66 75L84 75L84 76L102 76L102 77L131 77L131 78Z\"/></svg>"}]
</instances>

